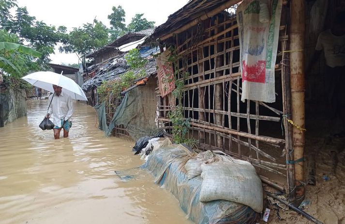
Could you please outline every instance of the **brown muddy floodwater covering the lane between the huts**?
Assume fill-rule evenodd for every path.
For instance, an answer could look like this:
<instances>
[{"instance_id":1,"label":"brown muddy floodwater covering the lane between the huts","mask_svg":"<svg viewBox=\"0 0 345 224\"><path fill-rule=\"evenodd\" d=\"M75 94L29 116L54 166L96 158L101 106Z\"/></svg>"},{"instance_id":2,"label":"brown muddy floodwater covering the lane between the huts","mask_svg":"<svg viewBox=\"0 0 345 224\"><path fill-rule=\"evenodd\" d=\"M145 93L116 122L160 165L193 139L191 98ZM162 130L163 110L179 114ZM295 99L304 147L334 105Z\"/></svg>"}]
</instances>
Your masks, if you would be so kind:
<instances>
[{"instance_id":1,"label":"brown muddy floodwater covering the lane between the huts","mask_svg":"<svg viewBox=\"0 0 345 224\"><path fill-rule=\"evenodd\" d=\"M47 100L28 101L28 116L0 128L0 224L190 223L172 194L140 166L132 142L106 138L92 107L75 104L68 139L43 131Z\"/></svg>"}]
</instances>

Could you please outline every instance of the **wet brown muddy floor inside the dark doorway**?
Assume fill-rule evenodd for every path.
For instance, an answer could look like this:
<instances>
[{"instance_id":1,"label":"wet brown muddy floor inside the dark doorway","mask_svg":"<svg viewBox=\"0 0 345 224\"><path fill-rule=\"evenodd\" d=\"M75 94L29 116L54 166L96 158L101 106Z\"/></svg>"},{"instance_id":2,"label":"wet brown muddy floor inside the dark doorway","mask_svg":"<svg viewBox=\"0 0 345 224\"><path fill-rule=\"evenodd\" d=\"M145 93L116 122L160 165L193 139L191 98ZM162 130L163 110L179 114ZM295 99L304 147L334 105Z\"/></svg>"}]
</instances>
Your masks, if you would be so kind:
<instances>
[{"instance_id":1,"label":"wet brown muddy floor inside the dark doorway","mask_svg":"<svg viewBox=\"0 0 345 224\"><path fill-rule=\"evenodd\" d=\"M315 168L316 185L306 185L304 211L325 224L345 224L345 138L332 137L334 124L316 119L307 124L305 176ZM291 210L280 209L280 216L272 213L269 223L313 224Z\"/></svg>"}]
</instances>

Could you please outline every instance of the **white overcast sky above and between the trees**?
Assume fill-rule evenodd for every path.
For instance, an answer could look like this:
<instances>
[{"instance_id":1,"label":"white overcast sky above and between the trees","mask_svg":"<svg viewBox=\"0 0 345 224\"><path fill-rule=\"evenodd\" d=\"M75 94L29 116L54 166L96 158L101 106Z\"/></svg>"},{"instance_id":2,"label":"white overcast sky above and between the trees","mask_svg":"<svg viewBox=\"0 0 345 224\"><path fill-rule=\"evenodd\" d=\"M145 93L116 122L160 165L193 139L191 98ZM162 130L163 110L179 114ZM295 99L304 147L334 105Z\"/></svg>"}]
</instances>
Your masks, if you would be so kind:
<instances>
[{"instance_id":1,"label":"white overcast sky above and between the trees","mask_svg":"<svg viewBox=\"0 0 345 224\"><path fill-rule=\"evenodd\" d=\"M84 23L92 23L96 17L108 28L109 14L113 6L122 6L126 12L126 24L137 13L144 13L149 21L161 25L167 17L179 10L188 0L17 0L20 7L26 6L30 16L43 20L48 25L66 26L68 30L81 27ZM50 59L54 64L75 64L78 58L75 54L60 54L55 51Z\"/></svg>"}]
</instances>

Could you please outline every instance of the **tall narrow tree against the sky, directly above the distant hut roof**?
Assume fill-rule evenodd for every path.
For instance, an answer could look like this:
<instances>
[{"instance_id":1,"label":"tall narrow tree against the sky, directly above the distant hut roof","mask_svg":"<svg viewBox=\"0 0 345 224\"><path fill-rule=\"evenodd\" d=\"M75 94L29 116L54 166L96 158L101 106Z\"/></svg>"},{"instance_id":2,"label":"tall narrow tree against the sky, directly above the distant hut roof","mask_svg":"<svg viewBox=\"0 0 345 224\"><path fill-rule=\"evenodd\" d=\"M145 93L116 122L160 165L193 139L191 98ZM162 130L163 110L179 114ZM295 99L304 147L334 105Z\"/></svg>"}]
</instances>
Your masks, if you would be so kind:
<instances>
[{"instance_id":1,"label":"tall narrow tree against the sky, directly above the distant hut roof","mask_svg":"<svg viewBox=\"0 0 345 224\"><path fill-rule=\"evenodd\" d=\"M122 9L122 6L118 6L117 8L115 6L113 6L112 8L113 13L108 15L108 19L110 19L110 38L112 40L115 40L117 38L119 38L120 36L122 36L127 28L126 28L126 24L125 22L125 15L126 13L124 12L124 10Z\"/></svg>"}]
</instances>

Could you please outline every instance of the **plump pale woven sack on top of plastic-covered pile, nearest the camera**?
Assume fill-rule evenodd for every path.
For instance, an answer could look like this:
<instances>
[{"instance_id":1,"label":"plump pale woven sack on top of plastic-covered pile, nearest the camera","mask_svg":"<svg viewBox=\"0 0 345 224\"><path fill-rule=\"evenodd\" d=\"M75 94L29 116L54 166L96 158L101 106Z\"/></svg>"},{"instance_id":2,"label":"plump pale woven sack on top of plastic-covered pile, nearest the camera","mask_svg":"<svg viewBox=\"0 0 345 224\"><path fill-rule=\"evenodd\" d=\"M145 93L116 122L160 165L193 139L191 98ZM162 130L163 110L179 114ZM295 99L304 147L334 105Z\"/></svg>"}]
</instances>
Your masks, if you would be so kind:
<instances>
[{"instance_id":1,"label":"plump pale woven sack on top of plastic-covered pile, nearest the camera","mask_svg":"<svg viewBox=\"0 0 345 224\"><path fill-rule=\"evenodd\" d=\"M224 157L224 161L202 164L201 202L227 200L247 205L257 212L263 208L260 178L252 164Z\"/></svg>"}]
</instances>

